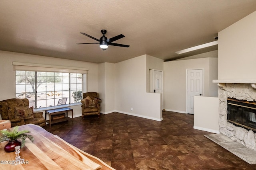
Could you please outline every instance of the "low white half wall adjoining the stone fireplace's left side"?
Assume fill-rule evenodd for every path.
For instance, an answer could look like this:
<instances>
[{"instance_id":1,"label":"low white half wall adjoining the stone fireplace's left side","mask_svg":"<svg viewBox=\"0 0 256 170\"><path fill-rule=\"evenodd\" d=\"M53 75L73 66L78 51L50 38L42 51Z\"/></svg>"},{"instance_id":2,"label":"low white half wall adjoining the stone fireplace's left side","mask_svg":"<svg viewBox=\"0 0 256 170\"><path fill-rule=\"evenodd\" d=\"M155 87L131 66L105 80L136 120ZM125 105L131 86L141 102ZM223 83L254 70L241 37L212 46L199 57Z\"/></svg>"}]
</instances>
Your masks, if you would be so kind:
<instances>
[{"instance_id":1,"label":"low white half wall adjoining the stone fireplace's left side","mask_svg":"<svg viewBox=\"0 0 256 170\"><path fill-rule=\"evenodd\" d=\"M194 96L194 129L220 133L219 98Z\"/></svg>"}]
</instances>

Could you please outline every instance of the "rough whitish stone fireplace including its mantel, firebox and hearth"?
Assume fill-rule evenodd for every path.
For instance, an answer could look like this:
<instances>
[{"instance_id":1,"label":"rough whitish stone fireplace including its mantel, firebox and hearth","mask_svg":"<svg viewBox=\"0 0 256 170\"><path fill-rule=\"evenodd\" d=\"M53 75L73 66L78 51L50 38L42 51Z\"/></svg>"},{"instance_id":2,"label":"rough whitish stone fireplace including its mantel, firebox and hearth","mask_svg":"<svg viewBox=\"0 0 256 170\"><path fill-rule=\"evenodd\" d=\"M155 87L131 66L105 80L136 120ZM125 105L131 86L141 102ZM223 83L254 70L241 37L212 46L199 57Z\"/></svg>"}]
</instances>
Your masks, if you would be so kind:
<instances>
[{"instance_id":1,"label":"rough whitish stone fireplace including its mantel, firebox and hearth","mask_svg":"<svg viewBox=\"0 0 256 170\"><path fill-rule=\"evenodd\" d=\"M209 134L204 136L249 164L256 164L256 134L254 134L256 112L254 110L254 105L250 105L256 104L256 80L213 80L213 82L218 83L219 86L220 134ZM238 103L236 103L237 101ZM236 106L233 108L231 107L231 112L230 108L228 108L228 103L232 103ZM234 116L237 112L239 112L238 114L242 112L243 108L241 107L244 107L243 105L250 108L244 110L245 115L247 116L246 119L244 116L242 116L242 118ZM228 112L231 113L231 117L228 115L230 114ZM244 123L246 121L248 122Z\"/></svg>"}]
</instances>

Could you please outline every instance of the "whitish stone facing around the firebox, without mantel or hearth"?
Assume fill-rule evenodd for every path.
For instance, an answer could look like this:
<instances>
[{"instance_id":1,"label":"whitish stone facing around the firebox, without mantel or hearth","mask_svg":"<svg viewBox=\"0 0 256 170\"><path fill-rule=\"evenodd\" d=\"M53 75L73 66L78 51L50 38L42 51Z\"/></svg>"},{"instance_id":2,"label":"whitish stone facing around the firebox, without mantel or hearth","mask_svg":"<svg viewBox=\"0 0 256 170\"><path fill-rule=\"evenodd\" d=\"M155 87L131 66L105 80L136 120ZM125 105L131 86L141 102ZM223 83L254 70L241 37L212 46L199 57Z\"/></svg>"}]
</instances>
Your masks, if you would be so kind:
<instances>
[{"instance_id":1,"label":"whitish stone facing around the firebox, without mantel or hearth","mask_svg":"<svg viewBox=\"0 0 256 170\"><path fill-rule=\"evenodd\" d=\"M252 88L251 84L218 83L218 86L220 133L245 147L256 150L256 134L227 121L227 98L256 101L256 90Z\"/></svg>"}]
</instances>

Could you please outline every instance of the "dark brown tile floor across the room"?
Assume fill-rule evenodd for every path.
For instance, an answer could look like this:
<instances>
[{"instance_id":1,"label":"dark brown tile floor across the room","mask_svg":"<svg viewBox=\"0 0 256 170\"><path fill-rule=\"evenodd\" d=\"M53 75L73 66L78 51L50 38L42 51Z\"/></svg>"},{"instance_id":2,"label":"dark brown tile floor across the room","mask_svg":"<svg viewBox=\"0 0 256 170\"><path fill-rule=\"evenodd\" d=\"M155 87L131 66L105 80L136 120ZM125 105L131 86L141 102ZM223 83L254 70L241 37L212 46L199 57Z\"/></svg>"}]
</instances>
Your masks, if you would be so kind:
<instances>
[{"instance_id":1,"label":"dark brown tile floor across the room","mask_svg":"<svg viewBox=\"0 0 256 170\"><path fill-rule=\"evenodd\" d=\"M45 129L116 170L255 170L193 129L194 115L164 111L163 121L121 113L74 118Z\"/></svg>"}]
</instances>

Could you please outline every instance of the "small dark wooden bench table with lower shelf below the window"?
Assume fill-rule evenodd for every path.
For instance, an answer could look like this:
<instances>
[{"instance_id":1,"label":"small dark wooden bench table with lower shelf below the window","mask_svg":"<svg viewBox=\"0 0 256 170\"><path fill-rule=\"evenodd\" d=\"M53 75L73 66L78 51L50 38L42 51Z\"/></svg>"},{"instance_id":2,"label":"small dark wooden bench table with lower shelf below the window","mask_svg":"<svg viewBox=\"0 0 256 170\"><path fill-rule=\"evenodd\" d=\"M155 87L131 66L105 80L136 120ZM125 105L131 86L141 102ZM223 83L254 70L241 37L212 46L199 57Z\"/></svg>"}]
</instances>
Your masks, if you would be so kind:
<instances>
[{"instance_id":1,"label":"small dark wooden bench table with lower shelf below the window","mask_svg":"<svg viewBox=\"0 0 256 170\"><path fill-rule=\"evenodd\" d=\"M59 108L59 109L46 110L45 111L45 120L46 120L46 114L49 114L49 120L46 120L46 121L50 124L50 129L51 129L51 124L59 123L59 122L62 122L62 121L67 121L68 119L70 119L68 117L68 111L72 112L72 120L73 120L73 109L71 109L69 107L63 107L63 108ZM64 117L62 119L52 120L52 115L57 115L57 114L64 113L64 112L66 112L66 117Z\"/></svg>"}]
</instances>

